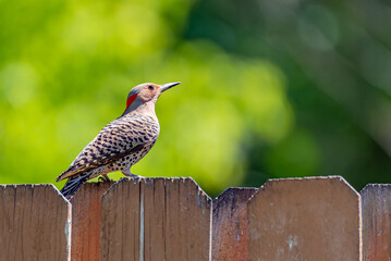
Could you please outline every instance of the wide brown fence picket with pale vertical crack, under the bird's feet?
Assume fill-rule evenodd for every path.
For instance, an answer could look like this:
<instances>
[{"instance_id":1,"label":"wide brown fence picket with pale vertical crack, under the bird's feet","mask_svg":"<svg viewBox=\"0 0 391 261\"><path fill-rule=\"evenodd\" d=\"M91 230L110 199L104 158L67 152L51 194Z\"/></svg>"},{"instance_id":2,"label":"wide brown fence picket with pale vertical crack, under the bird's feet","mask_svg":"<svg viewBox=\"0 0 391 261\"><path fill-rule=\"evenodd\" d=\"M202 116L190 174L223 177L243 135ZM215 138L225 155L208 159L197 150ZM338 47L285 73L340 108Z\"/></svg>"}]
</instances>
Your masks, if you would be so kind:
<instances>
[{"instance_id":1,"label":"wide brown fence picket with pale vertical crack, under the bird's feet","mask_svg":"<svg viewBox=\"0 0 391 261\"><path fill-rule=\"evenodd\" d=\"M123 178L103 196L101 260L210 260L211 200L192 178Z\"/></svg>"}]
</instances>

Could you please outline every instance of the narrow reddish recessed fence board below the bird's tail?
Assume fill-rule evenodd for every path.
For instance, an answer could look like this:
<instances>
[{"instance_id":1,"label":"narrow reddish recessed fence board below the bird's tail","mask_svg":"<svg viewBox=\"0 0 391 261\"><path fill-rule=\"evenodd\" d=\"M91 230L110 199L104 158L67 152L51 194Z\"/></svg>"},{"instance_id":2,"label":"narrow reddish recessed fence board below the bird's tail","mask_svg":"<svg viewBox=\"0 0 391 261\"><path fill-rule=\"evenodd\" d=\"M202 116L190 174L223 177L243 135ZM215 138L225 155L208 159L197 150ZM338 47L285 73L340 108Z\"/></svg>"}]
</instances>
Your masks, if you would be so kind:
<instances>
[{"instance_id":1,"label":"narrow reddish recessed fence board below the bird's tail","mask_svg":"<svg viewBox=\"0 0 391 261\"><path fill-rule=\"evenodd\" d=\"M99 260L101 197L114 183L86 183L71 199L72 261Z\"/></svg>"}]
</instances>

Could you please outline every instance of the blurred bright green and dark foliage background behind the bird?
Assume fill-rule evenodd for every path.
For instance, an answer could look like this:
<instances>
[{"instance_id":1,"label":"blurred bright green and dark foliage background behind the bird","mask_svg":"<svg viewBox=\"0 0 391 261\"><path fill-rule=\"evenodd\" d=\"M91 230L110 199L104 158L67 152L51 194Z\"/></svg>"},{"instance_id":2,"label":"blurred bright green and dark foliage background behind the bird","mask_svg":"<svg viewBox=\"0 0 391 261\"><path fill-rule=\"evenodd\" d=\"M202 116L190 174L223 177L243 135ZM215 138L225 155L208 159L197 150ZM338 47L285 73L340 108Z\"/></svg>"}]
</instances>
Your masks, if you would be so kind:
<instances>
[{"instance_id":1,"label":"blurred bright green and dark foliage background behind the bird","mask_svg":"<svg viewBox=\"0 0 391 261\"><path fill-rule=\"evenodd\" d=\"M391 182L388 1L0 0L0 184L53 183L133 86L176 80L133 173Z\"/></svg>"}]
</instances>

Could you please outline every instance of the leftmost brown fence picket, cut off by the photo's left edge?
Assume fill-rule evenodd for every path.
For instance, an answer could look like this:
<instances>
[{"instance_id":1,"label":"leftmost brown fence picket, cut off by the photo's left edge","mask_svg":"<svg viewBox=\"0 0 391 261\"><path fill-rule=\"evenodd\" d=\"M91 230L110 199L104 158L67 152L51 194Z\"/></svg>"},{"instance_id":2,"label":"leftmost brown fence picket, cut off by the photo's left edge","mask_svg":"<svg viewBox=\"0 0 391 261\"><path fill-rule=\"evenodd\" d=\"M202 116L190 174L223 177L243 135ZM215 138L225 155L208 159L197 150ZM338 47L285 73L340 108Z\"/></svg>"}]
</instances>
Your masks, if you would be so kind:
<instances>
[{"instance_id":1,"label":"leftmost brown fence picket, cut off by the photo's left edge","mask_svg":"<svg viewBox=\"0 0 391 261\"><path fill-rule=\"evenodd\" d=\"M0 185L0 260L70 260L70 223L53 185Z\"/></svg>"}]
</instances>

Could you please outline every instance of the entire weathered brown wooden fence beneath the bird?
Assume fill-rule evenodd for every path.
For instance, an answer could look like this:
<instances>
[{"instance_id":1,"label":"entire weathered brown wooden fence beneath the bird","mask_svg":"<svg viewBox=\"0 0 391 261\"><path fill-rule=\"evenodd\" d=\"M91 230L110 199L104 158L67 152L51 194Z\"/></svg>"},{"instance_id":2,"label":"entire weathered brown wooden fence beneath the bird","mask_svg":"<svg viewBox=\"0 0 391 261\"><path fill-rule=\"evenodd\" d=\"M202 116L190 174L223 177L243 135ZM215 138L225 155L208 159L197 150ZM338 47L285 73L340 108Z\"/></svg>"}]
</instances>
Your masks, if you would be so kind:
<instances>
[{"instance_id":1,"label":"entire weathered brown wooden fence beneath the bird","mask_svg":"<svg viewBox=\"0 0 391 261\"><path fill-rule=\"evenodd\" d=\"M391 185L270 179L211 200L192 178L0 186L0 260L391 260Z\"/></svg>"}]
</instances>

